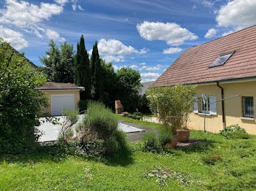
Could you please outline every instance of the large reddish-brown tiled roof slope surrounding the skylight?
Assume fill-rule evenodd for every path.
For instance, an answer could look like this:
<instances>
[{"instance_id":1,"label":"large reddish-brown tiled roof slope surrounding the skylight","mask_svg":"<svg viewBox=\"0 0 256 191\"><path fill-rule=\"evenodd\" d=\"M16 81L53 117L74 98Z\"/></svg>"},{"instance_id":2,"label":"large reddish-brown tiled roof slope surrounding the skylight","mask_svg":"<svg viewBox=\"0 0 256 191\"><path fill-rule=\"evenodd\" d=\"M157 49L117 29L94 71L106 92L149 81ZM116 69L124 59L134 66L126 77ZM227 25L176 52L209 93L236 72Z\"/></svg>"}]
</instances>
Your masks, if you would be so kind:
<instances>
[{"instance_id":1,"label":"large reddish-brown tiled roof slope surrounding the skylight","mask_svg":"<svg viewBox=\"0 0 256 191\"><path fill-rule=\"evenodd\" d=\"M223 66L209 68L219 55L236 51ZM186 50L154 86L197 84L256 77L256 26Z\"/></svg>"}]
</instances>

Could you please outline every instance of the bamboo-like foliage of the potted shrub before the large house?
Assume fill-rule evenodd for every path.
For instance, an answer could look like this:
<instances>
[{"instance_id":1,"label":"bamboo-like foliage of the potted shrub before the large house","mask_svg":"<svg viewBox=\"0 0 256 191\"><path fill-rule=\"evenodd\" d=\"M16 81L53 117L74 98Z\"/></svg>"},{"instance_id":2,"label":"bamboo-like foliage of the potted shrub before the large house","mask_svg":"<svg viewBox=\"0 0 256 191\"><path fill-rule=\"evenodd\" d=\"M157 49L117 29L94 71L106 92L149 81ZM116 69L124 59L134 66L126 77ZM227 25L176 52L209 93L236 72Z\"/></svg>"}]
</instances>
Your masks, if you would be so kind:
<instances>
[{"instance_id":1,"label":"bamboo-like foliage of the potted shrub before the large house","mask_svg":"<svg viewBox=\"0 0 256 191\"><path fill-rule=\"evenodd\" d=\"M194 85L149 87L146 95L159 121L170 125L173 133L177 129L187 128L189 113L192 112L194 103Z\"/></svg>"}]
</instances>

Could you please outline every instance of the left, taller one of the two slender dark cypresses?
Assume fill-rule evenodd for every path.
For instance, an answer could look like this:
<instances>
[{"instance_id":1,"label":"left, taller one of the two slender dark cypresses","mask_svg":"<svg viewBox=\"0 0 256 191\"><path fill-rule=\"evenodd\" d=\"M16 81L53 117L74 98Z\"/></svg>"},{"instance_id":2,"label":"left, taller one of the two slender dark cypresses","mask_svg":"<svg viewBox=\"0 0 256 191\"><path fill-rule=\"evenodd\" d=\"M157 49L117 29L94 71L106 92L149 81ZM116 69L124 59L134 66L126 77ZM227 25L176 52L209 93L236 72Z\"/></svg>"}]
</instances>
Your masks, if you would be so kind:
<instances>
[{"instance_id":1,"label":"left, taller one of the two slender dark cypresses","mask_svg":"<svg viewBox=\"0 0 256 191\"><path fill-rule=\"evenodd\" d=\"M83 35L80 37L75 58L75 85L85 87L85 91L81 93L82 99L91 98L90 61Z\"/></svg>"}]
</instances>

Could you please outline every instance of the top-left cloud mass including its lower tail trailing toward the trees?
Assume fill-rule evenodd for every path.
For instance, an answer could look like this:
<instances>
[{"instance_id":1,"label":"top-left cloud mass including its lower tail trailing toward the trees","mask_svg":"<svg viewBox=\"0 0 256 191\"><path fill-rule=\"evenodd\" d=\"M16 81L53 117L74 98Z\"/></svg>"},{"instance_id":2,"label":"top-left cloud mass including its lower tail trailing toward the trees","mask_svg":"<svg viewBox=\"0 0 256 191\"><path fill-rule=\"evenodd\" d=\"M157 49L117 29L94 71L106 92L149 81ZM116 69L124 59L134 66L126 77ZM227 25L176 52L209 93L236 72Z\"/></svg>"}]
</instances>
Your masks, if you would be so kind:
<instances>
[{"instance_id":1,"label":"top-left cloud mass including its lower tail trailing toward the trees","mask_svg":"<svg viewBox=\"0 0 256 191\"><path fill-rule=\"evenodd\" d=\"M36 34L40 39L55 39L63 41L58 32L39 27L44 20L63 12L65 0L56 0L59 4L40 3L39 6L28 1L6 0L6 5L0 9L0 23L12 25L28 33Z\"/></svg>"}]
</instances>

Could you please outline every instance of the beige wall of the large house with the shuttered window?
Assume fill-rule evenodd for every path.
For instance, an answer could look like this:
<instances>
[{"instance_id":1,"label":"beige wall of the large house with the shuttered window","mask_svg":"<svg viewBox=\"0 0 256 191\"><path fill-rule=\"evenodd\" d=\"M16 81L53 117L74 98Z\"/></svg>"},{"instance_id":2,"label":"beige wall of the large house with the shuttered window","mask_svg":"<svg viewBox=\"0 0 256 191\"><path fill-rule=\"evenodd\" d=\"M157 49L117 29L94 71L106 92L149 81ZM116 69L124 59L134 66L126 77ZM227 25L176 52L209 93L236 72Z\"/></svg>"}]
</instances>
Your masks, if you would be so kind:
<instances>
[{"instance_id":1,"label":"beige wall of the large house with the shuttered window","mask_svg":"<svg viewBox=\"0 0 256 191\"><path fill-rule=\"evenodd\" d=\"M245 128L247 133L256 134L256 121L254 119L242 119L242 96L253 96L254 109L256 109L256 82L233 82L219 83L224 89L224 98L241 94L237 98L230 98L224 101L226 126L238 124ZM221 100L221 89L217 85L198 85L196 87L197 97L202 93L213 95L217 100ZM256 110L255 110L256 117ZM188 128L203 130L203 114L192 113L189 115ZM212 133L219 133L223 129L222 125L222 103L217 102L217 115L206 115L206 130Z\"/></svg>"}]
</instances>

